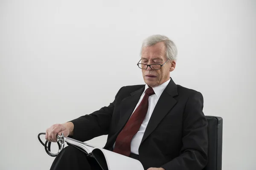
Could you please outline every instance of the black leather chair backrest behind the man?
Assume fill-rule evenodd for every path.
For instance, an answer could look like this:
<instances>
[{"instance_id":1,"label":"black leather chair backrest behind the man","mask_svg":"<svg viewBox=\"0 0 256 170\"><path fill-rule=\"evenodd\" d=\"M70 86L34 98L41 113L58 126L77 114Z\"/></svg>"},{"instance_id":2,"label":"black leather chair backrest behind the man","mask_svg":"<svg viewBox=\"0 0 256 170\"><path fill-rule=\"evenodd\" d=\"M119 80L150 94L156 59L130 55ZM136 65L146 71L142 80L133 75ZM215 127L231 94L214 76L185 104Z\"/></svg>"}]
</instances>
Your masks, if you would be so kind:
<instances>
[{"instance_id":1,"label":"black leather chair backrest behind the man","mask_svg":"<svg viewBox=\"0 0 256 170\"><path fill-rule=\"evenodd\" d=\"M205 116L208 121L208 163L204 170L221 170L223 120L217 116Z\"/></svg>"}]
</instances>

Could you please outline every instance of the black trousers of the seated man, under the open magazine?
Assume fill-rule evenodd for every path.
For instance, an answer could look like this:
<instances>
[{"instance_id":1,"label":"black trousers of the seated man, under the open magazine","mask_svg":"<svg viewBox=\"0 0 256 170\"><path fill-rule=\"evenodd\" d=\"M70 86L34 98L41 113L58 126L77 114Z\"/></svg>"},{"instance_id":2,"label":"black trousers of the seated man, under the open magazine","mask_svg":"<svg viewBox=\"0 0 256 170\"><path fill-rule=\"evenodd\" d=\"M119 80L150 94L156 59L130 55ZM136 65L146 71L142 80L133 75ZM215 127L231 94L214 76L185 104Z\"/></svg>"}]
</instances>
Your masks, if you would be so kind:
<instances>
[{"instance_id":1,"label":"black trousers of the seated man, under the open magazine","mask_svg":"<svg viewBox=\"0 0 256 170\"><path fill-rule=\"evenodd\" d=\"M139 156L132 154L131 158ZM88 160L89 159L89 160ZM102 170L92 158L87 158L86 153L73 146L67 146L56 156L50 170Z\"/></svg>"}]
</instances>

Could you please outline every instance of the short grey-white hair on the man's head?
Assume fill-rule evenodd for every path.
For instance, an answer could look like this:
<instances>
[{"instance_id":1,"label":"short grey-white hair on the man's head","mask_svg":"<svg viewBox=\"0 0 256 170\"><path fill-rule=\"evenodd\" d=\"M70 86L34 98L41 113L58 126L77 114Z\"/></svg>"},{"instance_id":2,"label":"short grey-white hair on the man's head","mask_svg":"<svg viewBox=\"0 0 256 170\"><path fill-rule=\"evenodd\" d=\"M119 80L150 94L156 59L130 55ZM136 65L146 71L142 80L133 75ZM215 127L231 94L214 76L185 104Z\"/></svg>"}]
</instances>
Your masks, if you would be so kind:
<instances>
[{"instance_id":1,"label":"short grey-white hair on the man's head","mask_svg":"<svg viewBox=\"0 0 256 170\"><path fill-rule=\"evenodd\" d=\"M175 43L172 40L170 40L168 37L164 35L151 35L147 37L142 43L140 55L142 53L143 47L153 46L159 42L164 42L166 46L166 57L171 61L176 61L177 47L175 46Z\"/></svg>"}]
</instances>

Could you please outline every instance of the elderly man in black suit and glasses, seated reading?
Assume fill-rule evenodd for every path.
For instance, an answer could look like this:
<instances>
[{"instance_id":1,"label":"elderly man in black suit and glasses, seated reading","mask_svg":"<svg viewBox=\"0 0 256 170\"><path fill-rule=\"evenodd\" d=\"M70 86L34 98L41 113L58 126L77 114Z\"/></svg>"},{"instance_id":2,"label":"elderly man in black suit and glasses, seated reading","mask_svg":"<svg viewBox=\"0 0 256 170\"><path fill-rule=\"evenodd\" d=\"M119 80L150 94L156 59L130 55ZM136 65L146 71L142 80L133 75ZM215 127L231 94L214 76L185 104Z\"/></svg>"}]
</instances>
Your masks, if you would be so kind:
<instances>
[{"instance_id":1,"label":"elderly man in black suit and glasses, seated reading","mask_svg":"<svg viewBox=\"0 0 256 170\"><path fill-rule=\"evenodd\" d=\"M152 35L143 41L144 85L123 86L115 100L90 115L46 131L87 141L108 135L105 149L139 160L145 170L202 170L207 164L207 120L200 92L176 85L177 49L168 37ZM84 153L69 146L55 158L52 170L94 170Z\"/></svg>"}]
</instances>

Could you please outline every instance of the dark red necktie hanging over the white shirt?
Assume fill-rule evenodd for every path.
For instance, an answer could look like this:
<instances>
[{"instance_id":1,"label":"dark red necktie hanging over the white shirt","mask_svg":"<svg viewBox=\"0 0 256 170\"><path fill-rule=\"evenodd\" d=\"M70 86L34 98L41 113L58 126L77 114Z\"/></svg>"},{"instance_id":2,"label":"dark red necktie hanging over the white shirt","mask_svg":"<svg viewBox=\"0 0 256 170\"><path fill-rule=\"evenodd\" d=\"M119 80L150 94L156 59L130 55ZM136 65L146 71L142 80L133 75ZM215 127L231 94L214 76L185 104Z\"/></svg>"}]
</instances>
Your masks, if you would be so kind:
<instances>
[{"instance_id":1,"label":"dark red necktie hanging over the white shirt","mask_svg":"<svg viewBox=\"0 0 256 170\"><path fill-rule=\"evenodd\" d=\"M119 133L116 138L116 144L113 152L119 153L125 156L129 156L131 153L131 139L138 132L147 112L148 112L148 97L154 95L152 87L146 89L145 95L140 102L140 105L131 115L131 118L125 124L125 127Z\"/></svg>"}]
</instances>

